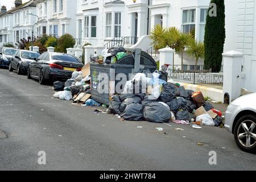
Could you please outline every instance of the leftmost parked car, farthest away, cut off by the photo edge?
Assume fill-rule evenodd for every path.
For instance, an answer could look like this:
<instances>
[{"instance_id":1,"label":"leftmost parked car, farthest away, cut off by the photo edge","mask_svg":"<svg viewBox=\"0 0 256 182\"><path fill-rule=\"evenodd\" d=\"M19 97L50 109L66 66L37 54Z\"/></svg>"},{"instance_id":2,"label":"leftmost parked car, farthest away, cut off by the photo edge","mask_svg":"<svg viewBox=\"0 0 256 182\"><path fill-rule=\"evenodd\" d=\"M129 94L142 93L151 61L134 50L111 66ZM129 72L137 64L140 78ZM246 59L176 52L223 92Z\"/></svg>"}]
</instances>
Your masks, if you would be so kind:
<instances>
[{"instance_id":1,"label":"leftmost parked car, farthest away, cut off by the photo edge","mask_svg":"<svg viewBox=\"0 0 256 182\"><path fill-rule=\"evenodd\" d=\"M13 57L17 51L18 49L15 48L2 47L0 50L0 67L8 68L11 57Z\"/></svg>"}]
</instances>

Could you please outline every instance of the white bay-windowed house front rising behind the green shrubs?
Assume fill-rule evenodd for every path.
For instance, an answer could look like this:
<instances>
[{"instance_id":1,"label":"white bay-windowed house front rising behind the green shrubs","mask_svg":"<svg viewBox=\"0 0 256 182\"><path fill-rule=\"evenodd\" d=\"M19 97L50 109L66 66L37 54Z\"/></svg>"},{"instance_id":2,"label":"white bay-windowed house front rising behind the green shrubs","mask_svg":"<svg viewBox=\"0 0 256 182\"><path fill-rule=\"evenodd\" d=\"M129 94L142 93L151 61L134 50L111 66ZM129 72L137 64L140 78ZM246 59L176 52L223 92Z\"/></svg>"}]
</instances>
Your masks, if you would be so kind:
<instances>
[{"instance_id":1,"label":"white bay-windowed house front rising behind the green shrubs","mask_svg":"<svg viewBox=\"0 0 256 182\"><path fill-rule=\"evenodd\" d=\"M76 2L77 0L36 0L36 15L39 17L36 35L59 37L68 33L76 38Z\"/></svg>"}]
</instances>

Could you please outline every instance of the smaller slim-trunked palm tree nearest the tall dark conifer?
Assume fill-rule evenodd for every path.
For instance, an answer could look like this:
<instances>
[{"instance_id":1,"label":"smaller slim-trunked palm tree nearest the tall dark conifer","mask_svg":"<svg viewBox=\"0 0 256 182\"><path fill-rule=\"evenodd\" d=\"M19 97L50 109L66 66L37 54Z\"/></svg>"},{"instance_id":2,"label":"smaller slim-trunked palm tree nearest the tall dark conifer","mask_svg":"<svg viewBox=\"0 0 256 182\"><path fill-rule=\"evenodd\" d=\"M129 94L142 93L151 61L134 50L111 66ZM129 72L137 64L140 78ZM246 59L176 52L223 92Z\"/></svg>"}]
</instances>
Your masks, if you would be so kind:
<instances>
[{"instance_id":1,"label":"smaller slim-trunked palm tree nearest the tall dark conifer","mask_svg":"<svg viewBox=\"0 0 256 182\"><path fill-rule=\"evenodd\" d=\"M204 43L192 41L187 49L187 54L196 59L196 65L199 59L204 59Z\"/></svg>"}]
</instances>

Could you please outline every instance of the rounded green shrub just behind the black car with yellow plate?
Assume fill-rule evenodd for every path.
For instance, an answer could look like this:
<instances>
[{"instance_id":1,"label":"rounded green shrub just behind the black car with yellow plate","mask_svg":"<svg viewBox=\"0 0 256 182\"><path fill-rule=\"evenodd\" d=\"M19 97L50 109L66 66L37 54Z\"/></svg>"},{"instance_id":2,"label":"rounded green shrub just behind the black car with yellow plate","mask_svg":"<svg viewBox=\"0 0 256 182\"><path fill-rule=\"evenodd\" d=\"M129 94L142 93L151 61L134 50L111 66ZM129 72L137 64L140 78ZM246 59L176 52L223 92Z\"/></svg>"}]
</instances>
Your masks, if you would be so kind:
<instances>
[{"instance_id":1,"label":"rounded green shrub just behind the black car with yellow plate","mask_svg":"<svg viewBox=\"0 0 256 182\"><path fill-rule=\"evenodd\" d=\"M65 34L57 40L56 52L67 53L67 48L73 48L75 46L75 40L72 35Z\"/></svg>"}]
</instances>

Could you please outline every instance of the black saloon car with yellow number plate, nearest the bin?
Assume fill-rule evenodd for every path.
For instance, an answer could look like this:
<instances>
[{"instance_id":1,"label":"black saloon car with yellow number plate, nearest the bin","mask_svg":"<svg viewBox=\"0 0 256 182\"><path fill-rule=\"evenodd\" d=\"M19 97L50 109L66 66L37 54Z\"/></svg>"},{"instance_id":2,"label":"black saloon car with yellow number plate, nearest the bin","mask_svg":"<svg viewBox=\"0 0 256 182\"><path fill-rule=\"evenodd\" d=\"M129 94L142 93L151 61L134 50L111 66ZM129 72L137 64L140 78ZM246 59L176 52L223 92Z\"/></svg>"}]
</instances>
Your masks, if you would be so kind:
<instances>
[{"instance_id":1,"label":"black saloon car with yellow number plate, nearest the bin","mask_svg":"<svg viewBox=\"0 0 256 182\"><path fill-rule=\"evenodd\" d=\"M44 52L28 66L27 78L35 78L40 84L47 81L65 81L74 71L80 71L84 65L72 55L58 52Z\"/></svg>"}]
</instances>

